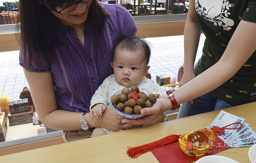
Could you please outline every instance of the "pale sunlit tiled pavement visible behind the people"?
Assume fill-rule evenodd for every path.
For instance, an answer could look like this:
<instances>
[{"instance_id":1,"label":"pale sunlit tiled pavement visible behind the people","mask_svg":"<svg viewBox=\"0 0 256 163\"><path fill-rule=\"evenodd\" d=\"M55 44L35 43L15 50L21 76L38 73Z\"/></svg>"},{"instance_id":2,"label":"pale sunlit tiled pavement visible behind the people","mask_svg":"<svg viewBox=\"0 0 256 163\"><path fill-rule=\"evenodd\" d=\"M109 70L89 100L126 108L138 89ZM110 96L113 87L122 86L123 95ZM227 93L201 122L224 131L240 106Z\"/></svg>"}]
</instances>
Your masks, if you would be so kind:
<instances>
[{"instance_id":1,"label":"pale sunlit tiled pavement visible behind the people","mask_svg":"<svg viewBox=\"0 0 256 163\"><path fill-rule=\"evenodd\" d=\"M202 55L205 36L202 34L199 42L196 61ZM161 72L178 75L178 69L183 64L183 36L168 36L147 38L150 42L152 55L150 58L151 77L155 80ZM8 93L13 99L19 99L22 89L28 86L22 67L19 65L19 51L0 53L0 94Z\"/></svg>"}]
</instances>

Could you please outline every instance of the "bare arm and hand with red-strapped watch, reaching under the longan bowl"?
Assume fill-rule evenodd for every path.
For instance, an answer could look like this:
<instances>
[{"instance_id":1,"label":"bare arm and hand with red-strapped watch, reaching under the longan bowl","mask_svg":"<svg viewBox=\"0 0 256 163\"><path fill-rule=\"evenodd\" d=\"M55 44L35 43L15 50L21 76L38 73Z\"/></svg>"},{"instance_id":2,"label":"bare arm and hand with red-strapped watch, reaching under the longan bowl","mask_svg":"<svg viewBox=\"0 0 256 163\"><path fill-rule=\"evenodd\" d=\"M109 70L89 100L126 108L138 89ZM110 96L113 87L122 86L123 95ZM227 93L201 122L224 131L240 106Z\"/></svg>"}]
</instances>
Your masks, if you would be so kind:
<instances>
[{"instance_id":1,"label":"bare arm and hand with red-strapped watch, reaching under the longan bowl","mask_svg":"<svg viewBox=\"0 0 256 163\"><path fill-rule=\"evenodd\" d=\"M226 82L244 65L256 50L256 23L241 20L230 39L224 54L212 67L190 80L174 92L178 104L187 102L206 94ZM218 76L216 78L216 76ZM170 100L165 97L159 99L151 108L141 110L149 117L139 120L124 119L124 123L146 124L151 123L157 115L172 107Z\"/></svg>"}]
</instances>

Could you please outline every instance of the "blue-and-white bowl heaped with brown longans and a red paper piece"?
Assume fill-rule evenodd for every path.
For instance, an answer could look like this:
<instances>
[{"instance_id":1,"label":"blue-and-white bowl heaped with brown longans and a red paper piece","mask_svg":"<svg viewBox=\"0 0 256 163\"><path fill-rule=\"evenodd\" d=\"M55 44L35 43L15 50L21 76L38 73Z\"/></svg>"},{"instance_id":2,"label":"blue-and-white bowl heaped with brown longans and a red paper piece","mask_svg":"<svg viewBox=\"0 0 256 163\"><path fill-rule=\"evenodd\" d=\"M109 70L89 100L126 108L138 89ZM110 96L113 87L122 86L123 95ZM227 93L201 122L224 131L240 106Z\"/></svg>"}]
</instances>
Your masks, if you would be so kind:
<instances>
[{"instance_id":1,"label":"blue-and-white bowl heaped with brown longans and a red paper piece","mask_svg":"<svg viewBox=\"0 0 256 163\"><path fill-rule=\"evenodd\" d=\"M157 100L155 94L145 94L139 91L139 87L133 86L131 89L123 88L111 96L110 101L114 110L123 118L138 119L145 115L141 115L143 108L152 107Z\"/></svg>"}]
</instances>

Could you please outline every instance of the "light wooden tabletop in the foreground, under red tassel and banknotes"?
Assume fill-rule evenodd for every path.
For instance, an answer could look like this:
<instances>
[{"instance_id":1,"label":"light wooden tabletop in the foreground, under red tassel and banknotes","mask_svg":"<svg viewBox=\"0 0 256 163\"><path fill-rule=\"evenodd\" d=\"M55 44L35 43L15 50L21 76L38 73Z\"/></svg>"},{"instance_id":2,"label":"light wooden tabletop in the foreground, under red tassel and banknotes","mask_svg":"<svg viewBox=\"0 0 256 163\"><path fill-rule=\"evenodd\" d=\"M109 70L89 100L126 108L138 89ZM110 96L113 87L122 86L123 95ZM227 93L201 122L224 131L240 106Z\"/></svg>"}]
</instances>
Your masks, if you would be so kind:
<instances>
[{"instance_id":1,"label":"light wooden tabletop in the foreground, under red tassel and banknotes","mask_svg":"<svg viewBox=\"0 0 256 163\"><path fill-rule=\"evenodd\" d=\"M255 108L256 102L223 110L245 118L244 122L256 131ZM126 148L151 143L167 135L181 135L206 128L219 112L220 110L217 110L142 128L10 154L0 157L0 162L158 162L151 152L137 159L130 158L126 154ZM215 155L229 157L239 163L248 163L248 150L249 147L229 148L225 153ZM230 153L232 151L234 153Z\"/></svg>"}]
</instances>

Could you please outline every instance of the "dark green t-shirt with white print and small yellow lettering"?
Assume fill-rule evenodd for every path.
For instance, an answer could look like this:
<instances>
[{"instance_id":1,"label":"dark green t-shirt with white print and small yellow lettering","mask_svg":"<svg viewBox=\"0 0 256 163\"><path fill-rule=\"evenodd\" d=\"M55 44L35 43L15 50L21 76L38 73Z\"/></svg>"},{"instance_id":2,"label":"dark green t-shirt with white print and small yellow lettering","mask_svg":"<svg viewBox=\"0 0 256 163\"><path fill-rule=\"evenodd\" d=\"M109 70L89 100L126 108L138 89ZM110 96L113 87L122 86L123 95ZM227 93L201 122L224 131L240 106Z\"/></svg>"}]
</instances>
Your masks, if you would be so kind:
<instances>
[{"instance_id":1,"label":"dark green t-shirt with white print and small yellow lettering","mask_svg":"<svg viewBox=\"0 0 256 163\"><path fill-rule=\"evenodd\" d=\"M195 0L195 8L206 36L202 57L195 67L197 76L219 61L240 20L256 23L256 0ZM233 106L256 102L256 51L212 93Z\"/></svg>"}]
</instances>

